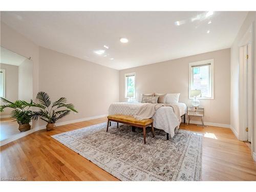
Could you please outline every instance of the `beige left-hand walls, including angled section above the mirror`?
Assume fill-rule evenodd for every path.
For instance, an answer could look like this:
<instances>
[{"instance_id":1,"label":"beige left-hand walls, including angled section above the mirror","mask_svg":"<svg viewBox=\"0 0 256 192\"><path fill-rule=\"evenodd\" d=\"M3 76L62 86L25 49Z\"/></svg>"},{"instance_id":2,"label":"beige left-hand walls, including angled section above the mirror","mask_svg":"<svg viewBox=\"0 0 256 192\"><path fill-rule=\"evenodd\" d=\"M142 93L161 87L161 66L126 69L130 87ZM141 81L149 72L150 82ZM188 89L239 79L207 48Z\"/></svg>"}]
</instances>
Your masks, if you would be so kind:
<instances>
[{"instance_id":1,"label":"beige left-hand walls, including angled section above the mirror","mask_svg":"<svg viewBox=\"0 0 256 192\"><path fill-rule=\"evenodd\" d=\"M67 97L79 111L61 121L104 115L119 100L119 72L49 49L40 48L1 22L1 46L33 61L33 100L46 91L52 100ZM40 60L39 60L40 57ZM33 127L46 123L36 121Z\"/></svg>"}]
</instances>

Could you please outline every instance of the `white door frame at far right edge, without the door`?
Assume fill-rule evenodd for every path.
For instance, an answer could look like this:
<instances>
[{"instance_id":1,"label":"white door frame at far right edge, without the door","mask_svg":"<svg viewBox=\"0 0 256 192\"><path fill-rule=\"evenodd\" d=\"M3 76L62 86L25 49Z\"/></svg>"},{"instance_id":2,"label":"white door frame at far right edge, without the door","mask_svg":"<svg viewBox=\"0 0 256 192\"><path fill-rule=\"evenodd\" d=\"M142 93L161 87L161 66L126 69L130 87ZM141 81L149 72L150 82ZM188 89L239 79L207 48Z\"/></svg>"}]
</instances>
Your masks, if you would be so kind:
<instances>
[{"instance_id":1,"label":"white door frame at far right edge, without the door","mask_svg":"<svg viewBox=\"0 0 256 192\"><path fill-rule=\"evenodd\" d=\"M240 56L240 48L246 45L250 44L251 50L250 50L250 66L248 66L248 126L251 125L251 150L253 152L253 146L254 146L254 110L255 110L255 98L254 98L254 56L252 53L254 53L254 22L250 25L246 33L244 34L243 38L240 40L239 46L239 56ZM243 63L240 62L239 58L239 139L240 140L247 140L247 132L245 131L245 110L246 110L246 84L245 84L245 78L246 72L243 70ZM249 71L250 70L250 71ZM255 90L254 90L255 91Z\"/></svg>"}]
</instances>

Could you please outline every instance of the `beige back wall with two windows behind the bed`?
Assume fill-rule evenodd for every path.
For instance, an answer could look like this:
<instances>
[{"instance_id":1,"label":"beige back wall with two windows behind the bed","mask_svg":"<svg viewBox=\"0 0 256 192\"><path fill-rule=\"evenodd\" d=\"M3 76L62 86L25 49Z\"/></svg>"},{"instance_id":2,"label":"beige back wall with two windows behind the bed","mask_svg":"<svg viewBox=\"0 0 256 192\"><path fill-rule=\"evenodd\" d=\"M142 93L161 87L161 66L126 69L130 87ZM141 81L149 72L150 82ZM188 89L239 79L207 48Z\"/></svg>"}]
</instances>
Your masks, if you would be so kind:
<instances>
[{"instance_id":1,"label":"beige back wall with two windows behind the bed","mask_svg":"<svg viewBox=\"0 0 256 192\"><path fill-rule=\"evenodd\" d=\"M137 97L141 93L181 93L180 102L188 99L189 62L214 59L214 99L201 99L205 121L230 124L230 49L183 57L120 71L120 101L124 99L124 74L136 72ZM194 117L193 120L199 120Z\"/></svg>"}]
</instances>

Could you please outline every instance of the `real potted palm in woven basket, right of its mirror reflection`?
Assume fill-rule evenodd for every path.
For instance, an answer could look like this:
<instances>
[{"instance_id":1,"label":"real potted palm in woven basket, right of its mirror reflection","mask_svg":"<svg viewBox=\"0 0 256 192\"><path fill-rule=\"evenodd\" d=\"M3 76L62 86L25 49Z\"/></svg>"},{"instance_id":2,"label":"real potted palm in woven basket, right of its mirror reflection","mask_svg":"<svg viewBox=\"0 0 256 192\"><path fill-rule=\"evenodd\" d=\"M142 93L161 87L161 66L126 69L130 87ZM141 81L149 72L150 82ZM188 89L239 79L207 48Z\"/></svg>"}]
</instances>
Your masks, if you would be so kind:
<instances>
[{"instance_id":1,"label":"real potted palm in woven basket, right of its mirror reflection","mask_svg":"<svg viewBox=\"0 0 256 192\"><path fill-rule=\"evenodd\" d=\"M55 122L70 114L71 111L78 113L72 103L67 104L65 97L61 97L52 103L46 92L38 92L36 98L39 100L39 103L34 103L34 106L40 108L40 111L33 112L32 119L37 120L40 117L40 119L46 121L47 131L53 130Z\"/></svg>"}]
</instances>

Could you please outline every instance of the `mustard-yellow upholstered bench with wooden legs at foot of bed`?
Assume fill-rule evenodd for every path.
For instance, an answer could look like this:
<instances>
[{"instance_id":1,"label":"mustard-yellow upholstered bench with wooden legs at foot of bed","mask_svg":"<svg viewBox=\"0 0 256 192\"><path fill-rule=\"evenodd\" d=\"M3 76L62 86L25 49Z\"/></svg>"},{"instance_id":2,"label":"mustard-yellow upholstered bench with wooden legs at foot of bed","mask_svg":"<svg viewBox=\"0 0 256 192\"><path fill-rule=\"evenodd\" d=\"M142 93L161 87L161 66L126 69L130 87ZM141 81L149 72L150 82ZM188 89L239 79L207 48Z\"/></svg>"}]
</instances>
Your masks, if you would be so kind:
<instances>
[{"instance_id":1,"label":"mustard-yellow upholstered bench with wooden legs at foot of bed","mask_svg":"<svg viewBox=\"0 0 256 192\"><path fill-rule=\"evenodd\" d=\"M138 120L138 119L135 119L131 115L119 115L119 114L109 115L108 116L108 125L106 126L106 131L107 132L109 130L109 125L110 125L111 121L117 122L117 127L118 127L118 123L132 125L133 126L133 131L134 131L134 127L142 128L143 129L144 143L146 143L146 127L151 126L151 133L152 133L153 137L155 137L153 119Z\"/></svg>"}]
</instances>

